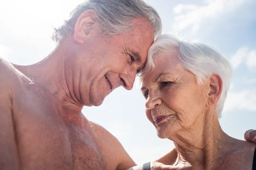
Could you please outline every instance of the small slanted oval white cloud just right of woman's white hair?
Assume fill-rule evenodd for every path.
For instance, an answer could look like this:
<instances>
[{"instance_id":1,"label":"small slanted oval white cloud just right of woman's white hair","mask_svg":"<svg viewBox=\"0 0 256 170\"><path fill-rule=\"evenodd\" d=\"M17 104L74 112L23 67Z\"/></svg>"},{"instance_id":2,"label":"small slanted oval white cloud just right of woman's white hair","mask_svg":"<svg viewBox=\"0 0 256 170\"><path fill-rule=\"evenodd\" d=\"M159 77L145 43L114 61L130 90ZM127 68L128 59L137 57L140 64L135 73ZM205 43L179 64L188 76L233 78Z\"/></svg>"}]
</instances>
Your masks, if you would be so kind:
<instances>
[{"instance_id":1,"label":"small slanted oval white cloud just right of woman's white hair","mask_svg":"<svg viewBox=\"0 0 256 170\"><path fill-rule=\"evenodd\" d=\"M230 58L230 63L233 66L234 69L238 68L238 66L242 63L243 59L246 57L247 52L249 48L248 47L241 47L236 51L236 54L234 54Z\"/></svg>"}]
</instances>

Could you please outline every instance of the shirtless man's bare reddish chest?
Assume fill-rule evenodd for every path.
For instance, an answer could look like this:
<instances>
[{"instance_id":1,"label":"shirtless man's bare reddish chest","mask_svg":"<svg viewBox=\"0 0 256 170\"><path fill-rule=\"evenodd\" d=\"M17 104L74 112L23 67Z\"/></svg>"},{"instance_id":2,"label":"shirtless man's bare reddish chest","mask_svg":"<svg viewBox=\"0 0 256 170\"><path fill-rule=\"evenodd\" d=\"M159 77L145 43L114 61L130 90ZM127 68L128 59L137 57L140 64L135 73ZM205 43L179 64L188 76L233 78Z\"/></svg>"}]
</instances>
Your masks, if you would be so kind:
<instances>
[{"instance_id":1,"label":"shirtless man's bare reddish chest","mask_svg":"<svg viewBox=\"0 0 256 170\"><path fill-rule=\"evenodd\" d=\"M32 94L16 100L13 114L20 164L26 170L105 170L90 130L69 127L54 103Z\"/></svg>"}]
</instances>

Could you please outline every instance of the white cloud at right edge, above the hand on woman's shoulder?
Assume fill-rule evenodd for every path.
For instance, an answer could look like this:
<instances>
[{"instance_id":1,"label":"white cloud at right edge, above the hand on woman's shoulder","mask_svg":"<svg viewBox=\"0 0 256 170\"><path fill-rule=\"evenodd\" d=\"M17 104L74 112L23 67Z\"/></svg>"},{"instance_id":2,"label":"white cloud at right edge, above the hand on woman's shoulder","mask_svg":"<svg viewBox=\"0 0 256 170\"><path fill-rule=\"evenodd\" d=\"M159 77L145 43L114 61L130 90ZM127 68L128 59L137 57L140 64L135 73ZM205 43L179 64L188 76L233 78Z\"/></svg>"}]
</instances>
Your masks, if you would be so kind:
<instances>
[{"instance_id":1,"label":"white cloud at right edge, above the hand on woman's shoulder","mask_svg":"<svg viewBox=\"0 0 256 170\"><path fill-rule=\"evenodd\" d=\"M256 111L256 89L247 89L240 92L229 92L224 104L224 111L243 109Z\"/></svg>"}]
</instances>

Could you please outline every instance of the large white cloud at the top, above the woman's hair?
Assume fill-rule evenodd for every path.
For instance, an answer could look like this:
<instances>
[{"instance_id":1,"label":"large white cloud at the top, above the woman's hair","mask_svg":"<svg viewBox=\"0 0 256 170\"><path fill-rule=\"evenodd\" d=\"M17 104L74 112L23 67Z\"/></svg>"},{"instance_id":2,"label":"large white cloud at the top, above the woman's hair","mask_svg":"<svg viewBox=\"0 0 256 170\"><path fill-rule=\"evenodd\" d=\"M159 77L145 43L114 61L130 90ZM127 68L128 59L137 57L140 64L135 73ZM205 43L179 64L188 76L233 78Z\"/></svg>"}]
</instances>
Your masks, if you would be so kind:
<instances>
[{"instance_id":1,"label":"large white cloud at the top, above the woman's hair","mask_svg":"<svg viewBox=\"0 0 256 170\"><path fill-rule=\"evenodd\" d=\"M173 8L175 14L174 31L192 27L197 31L204 20L221 17L222 14L235 11L248 0L207 0L203 6L178 4Z\"/></svg>"}]
</instances>

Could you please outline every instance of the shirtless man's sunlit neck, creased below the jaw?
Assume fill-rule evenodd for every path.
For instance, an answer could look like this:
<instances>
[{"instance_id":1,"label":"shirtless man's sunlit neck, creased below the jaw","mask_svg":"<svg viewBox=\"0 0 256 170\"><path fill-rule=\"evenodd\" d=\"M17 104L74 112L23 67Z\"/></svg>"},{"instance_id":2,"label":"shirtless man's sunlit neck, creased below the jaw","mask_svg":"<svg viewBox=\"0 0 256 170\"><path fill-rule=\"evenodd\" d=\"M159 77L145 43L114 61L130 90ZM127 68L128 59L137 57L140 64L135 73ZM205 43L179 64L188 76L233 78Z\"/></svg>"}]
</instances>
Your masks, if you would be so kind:
<instances>
[{"instance_id":1,"label":"shirtless man's sunlit neck, creased below the jaw","mask_svg":"<svg viewBox=\"0 0 256 170\"><path fill-rule=\"evenodd\" d=\"M36 86L53 94L61 107L81 112L83 105L76 96L73 83L68 82L66 74L67 53L58 45L49 56L32 65L15 65L15 68L31 79Z\"/></svg>"}]
</instances>

